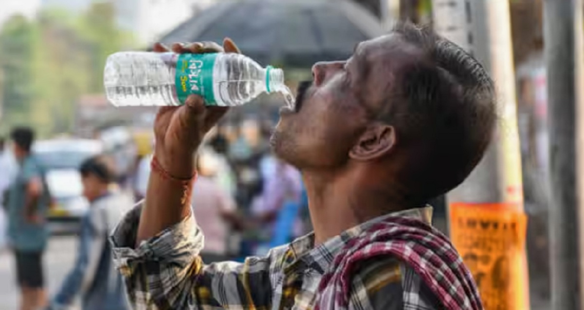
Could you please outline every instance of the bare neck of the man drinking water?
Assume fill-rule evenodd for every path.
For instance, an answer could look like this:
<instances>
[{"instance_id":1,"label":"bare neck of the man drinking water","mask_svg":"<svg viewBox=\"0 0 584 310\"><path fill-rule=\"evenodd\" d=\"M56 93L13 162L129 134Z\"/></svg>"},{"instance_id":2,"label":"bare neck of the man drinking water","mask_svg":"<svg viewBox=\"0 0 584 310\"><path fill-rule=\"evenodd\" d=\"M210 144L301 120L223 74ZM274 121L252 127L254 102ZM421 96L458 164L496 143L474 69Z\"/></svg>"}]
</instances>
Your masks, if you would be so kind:
<instances>
[{"instance_id":1,"label":"bare neck of the man drinking water","mask_svg":"<svg viewBox=\"0 0 584 310\"><path fill-rule=\"evenodd\" d=\"M376 191L358 177L323 177L303 171L303 179L315 245L366 221L405 209L389 191Z\"/></svg>"}]
</instances>

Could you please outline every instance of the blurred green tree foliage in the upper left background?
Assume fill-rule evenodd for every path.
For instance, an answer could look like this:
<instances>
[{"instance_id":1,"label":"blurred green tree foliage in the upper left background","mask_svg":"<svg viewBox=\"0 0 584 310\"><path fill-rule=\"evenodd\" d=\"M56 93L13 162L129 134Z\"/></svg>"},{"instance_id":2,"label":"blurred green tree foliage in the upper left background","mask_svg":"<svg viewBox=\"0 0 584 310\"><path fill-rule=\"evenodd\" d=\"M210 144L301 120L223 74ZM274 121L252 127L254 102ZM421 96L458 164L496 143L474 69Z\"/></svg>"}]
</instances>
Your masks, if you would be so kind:
<instances>
[{"instance_id":1,"label":"blurred green tree foliage in the upper left background","mask_svg":"<svg viewBox=\"0 0 584 310\"><path fill-rule=\"evenodd\" d=\"M112 3L80 16L45 10L8 20L0 31L0 132L32 125L40 136L68 132L79 96L103 91L107 55L131 47L116 26Z\"/></svg>"}]
</instances>

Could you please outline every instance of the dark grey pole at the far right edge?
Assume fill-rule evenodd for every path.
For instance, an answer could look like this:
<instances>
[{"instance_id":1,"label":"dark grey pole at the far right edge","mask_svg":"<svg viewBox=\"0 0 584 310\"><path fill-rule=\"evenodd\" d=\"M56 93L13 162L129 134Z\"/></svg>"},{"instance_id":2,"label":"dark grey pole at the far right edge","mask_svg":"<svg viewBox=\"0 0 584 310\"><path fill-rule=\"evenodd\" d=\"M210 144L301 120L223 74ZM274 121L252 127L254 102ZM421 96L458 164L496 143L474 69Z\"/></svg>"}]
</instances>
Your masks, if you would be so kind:
<instances>
[{"instance_id":1,"label":"dark grey pole at the far right edge","mask_svg":"<svg viewBox=\"0 0 584 310\"><path fill-rule=\"evenodd\" d=\"M576 73L582 54L576 54L576 42L581 43L582 40L578 37L582 36L584 26L582 9L581 1L544 1L544 51L547 62L548 119L552 137L551 300L553 309L566 310L580 309L581 305L576 193L576 90L581 90L582 84L576 87ZM579 20L579 24L576 24L576 20Z\"/></svg>"}]
</instances>

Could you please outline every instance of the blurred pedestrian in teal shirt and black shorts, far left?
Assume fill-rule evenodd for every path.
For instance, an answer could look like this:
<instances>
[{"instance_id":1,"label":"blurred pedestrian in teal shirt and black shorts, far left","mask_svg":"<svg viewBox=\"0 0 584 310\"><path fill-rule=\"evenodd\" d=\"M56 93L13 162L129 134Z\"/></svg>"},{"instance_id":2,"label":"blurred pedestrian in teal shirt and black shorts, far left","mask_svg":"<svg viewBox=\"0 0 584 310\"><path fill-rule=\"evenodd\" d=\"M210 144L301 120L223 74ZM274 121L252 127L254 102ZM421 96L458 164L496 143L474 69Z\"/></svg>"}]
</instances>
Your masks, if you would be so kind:
<instances>
[{"instance_id":1,"label":"blurred pedestrian in teal shirt and black shorts, far left","mask_svg":"<svg viewBox=\"0 0 584 310\"><path fill-rule=\"evenodd\" d=\"M20 166L8 198L8 235L16 258L20 309L46 305L43 252L47 245L46 212L50 203L44 169L31 147L34 132L18 127L11 133L13 153Z\"/></svg>"}]
</instances>

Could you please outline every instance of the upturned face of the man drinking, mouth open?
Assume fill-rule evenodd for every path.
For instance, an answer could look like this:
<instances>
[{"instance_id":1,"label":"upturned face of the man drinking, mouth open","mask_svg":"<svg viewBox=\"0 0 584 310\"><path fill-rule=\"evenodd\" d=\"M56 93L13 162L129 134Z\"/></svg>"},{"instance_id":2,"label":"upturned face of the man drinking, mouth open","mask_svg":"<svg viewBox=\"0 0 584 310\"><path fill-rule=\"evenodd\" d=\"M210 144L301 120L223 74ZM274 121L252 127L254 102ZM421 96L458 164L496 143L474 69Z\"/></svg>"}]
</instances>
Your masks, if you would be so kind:
<instances>
[{"instance_id":1,"label":"upturned face of the man drinking, mouth open","mask_svg":"<svg viewBox=\"0 0 584 310\"><path fill-rule=\"evenodd\" d=\"M387 108L399 62L411 55L395 34L360 43L347 61L319 62L296 107L280 110L274 152L300 170L342 167L371 120Z\"/></svg>"}]
</instances>

